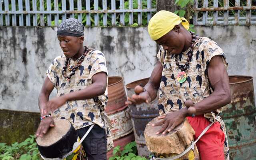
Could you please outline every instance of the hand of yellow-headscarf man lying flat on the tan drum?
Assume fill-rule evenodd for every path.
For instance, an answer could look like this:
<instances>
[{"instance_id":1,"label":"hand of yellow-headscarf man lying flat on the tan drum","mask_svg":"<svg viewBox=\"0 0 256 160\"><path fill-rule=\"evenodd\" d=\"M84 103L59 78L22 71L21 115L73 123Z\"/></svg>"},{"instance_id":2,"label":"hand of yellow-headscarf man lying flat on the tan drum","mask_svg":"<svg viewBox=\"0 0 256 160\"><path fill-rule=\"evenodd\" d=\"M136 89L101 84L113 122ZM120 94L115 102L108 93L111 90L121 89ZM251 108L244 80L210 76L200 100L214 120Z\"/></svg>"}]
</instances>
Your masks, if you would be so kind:
<instances>
[{"instance_id":1,"label":"hand of yellow-headscarf man lying flat on the tan drum","mask_svg":"<svg viewBox=\"0 0 256 160\"><path fill-rule=\"evenodd\" d=\"M167 113L162 116L159 116L158 119L160 121L152 124L152 126L162 125L162 128L158 130L156 134L160 134L162 132L163 132L162 134L167 134L171 130L173 130L176 126L181 124L186 118L187 110L188 110L187 108L184 108L184 109L182 108L178 112L171 112L171 113Z\"/></svg>"}]
</instances>

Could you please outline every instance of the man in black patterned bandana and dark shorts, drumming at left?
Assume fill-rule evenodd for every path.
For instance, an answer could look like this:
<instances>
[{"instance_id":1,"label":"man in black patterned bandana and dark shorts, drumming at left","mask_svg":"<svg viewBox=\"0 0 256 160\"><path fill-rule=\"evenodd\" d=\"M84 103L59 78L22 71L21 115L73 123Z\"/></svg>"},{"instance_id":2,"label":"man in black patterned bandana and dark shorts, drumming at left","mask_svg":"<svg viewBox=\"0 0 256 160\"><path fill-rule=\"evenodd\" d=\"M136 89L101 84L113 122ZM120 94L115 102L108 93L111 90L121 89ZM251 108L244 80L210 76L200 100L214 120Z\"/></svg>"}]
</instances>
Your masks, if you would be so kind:
<instances>
[{"instance_id":1,"label":"man in black patterned bandana and dark shorts, drumming at left","mask_svg":"<svg viewBox=\"0 0 256 160\"><path fill-rule=\"evenodd\" d=\"M60 118L69 120L80 138L95 124L82 145L88 160L106 160L107 148L113 146L107 143L102 120L108 100L104 54L83 46L84 26L74 18L60 24L57 36L64 55L56 57L46 72L38 102L43 118L36 136L44 136ZM57 97L49 100L54 88ZM48 112L52 117L46 117Z\"/></svg>"}]
</instances>

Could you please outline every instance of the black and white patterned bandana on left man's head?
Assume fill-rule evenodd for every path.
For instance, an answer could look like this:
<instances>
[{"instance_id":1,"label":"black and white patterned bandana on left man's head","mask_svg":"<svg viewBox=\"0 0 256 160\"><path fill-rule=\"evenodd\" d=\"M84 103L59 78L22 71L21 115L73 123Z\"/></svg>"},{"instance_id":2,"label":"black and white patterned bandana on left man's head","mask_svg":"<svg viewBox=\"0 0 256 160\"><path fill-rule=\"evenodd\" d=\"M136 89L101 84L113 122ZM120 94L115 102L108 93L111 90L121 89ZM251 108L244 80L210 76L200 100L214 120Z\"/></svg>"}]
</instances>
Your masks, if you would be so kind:
<instances>
[{"instance_id":1,"label":"black and white patterned bandana on left man's head","mask_svg":"<svg viewBox=\"0 0 256 160\"><path fill-rule=\"evenodd\" d=\"M84 36L84 26L75 18L68 18L58 26L57 36Z\"/></svg>"}]
</instances>

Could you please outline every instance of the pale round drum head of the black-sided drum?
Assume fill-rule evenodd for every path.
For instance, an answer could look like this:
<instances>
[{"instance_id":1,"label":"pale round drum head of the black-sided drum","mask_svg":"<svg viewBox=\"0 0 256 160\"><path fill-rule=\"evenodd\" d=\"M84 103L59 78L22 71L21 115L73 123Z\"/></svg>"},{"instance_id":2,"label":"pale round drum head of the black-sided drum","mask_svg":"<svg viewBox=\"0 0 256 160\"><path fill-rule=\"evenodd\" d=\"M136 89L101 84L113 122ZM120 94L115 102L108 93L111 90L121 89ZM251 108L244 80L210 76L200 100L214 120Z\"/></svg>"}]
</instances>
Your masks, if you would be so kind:
<instances>
[{"instance_id":1,"label":"pale round drum head of the black-sided drum","mask_svg":"<svg viewBox=\"0 0 256 160\"><path fill-rule=\"evenodd\" d=\"M36 143L39 146L50 146L58 142L70 130L71 124L68 120L54 120L54 127L50 127L43 137L37 137Z\"/></svg>"}]
</instances>

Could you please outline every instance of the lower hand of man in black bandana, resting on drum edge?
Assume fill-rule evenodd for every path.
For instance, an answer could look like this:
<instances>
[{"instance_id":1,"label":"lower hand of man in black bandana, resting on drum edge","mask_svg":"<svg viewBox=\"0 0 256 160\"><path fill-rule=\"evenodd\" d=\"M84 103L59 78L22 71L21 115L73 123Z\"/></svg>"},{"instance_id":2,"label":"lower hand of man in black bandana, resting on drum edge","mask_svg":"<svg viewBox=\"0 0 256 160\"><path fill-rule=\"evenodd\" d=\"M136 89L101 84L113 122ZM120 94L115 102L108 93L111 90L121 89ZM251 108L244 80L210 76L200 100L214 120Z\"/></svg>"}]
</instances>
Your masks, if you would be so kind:
<instances>
[{"instance_id":1,"label":"lower hand of man in black bandana, resting on drum edge","mask_svg":"<svg viewBox=\"0 0 256 160\"><path fill-rule=\"evenodd\" d=\"M44 118L40 124L39 127L36 131L36 136L38 137L42 137L44 136L44 134L47 133L49 127L54 127L54 120L52 119L52 117L47 117Z\"/></svg>"}]
</instances>

